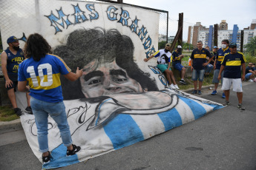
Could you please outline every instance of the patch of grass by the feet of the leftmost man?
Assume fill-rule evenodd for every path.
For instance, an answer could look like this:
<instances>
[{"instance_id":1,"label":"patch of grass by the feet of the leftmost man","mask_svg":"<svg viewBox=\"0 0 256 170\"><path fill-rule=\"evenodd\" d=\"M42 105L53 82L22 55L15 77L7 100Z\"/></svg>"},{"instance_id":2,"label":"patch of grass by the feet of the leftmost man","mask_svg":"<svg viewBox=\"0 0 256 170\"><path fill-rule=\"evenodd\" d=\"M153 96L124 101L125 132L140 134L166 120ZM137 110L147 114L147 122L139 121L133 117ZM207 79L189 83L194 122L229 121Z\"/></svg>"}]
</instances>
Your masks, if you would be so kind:
<instances>
[{"instance_id":1,"label":"patch of grass by the feet of the leftmost man","mask_svg":"<svg viewBox=\"0 0 256 170\"><path fill-rule=\"evenodd\" d=\"M11 121L19 119L12 106L0 106L0 121Z\"/></svg>"}]
</instances>

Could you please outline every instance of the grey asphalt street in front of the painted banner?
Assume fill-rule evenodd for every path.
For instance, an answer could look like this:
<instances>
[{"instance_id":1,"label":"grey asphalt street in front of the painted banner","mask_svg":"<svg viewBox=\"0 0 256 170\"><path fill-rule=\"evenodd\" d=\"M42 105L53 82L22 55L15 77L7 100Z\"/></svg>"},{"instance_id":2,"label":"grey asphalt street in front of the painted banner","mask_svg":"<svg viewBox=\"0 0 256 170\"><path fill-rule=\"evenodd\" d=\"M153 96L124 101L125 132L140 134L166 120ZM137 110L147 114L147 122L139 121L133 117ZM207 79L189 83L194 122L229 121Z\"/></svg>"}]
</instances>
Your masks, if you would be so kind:
<instances>
[{"instance_id":1,"label":"grey asphalt street in front of the painted banner","mask_svg":"<svg viewBox=\"0 0 256 170\"><path fill-rule=\"evenodd\" d=\"M82 163L60 169L256 169L256 83L243 83L245 111L237 109L231 91L230 106ZM222 92L200 97L223 103ZM42 169L23 130L0 134L0 169Z\"/></svg>"}]
</instances>

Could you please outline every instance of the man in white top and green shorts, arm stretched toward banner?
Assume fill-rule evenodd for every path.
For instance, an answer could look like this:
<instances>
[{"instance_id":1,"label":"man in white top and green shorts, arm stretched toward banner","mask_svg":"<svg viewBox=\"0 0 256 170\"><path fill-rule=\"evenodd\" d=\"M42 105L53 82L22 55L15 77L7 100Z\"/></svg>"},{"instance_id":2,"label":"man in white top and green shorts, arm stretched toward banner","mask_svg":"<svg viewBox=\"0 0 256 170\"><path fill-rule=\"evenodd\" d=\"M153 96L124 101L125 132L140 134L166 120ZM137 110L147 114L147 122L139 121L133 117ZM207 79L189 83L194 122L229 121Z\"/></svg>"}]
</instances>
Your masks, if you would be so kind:
<instances>
[{"instance_id":1,"label":"man in white top and green shorts, arm stretched toward banner","mask_svg":"<svg viewBox=\"0 0 256 170\"><path fill-rule=\"evenodd\" d=\"M167 78L168 85L171 89L180 89L176 84L174 73L171 71L171 44L165 44L165 49L158 50L154 54L152 54L149 58L145 58L144 61L148 62L151 58L155 57L157 59L157 67L160 69L161 72L165 74L165 78ZM171 81L174 83L172 84Z\"/></svg>"}]
</instances>

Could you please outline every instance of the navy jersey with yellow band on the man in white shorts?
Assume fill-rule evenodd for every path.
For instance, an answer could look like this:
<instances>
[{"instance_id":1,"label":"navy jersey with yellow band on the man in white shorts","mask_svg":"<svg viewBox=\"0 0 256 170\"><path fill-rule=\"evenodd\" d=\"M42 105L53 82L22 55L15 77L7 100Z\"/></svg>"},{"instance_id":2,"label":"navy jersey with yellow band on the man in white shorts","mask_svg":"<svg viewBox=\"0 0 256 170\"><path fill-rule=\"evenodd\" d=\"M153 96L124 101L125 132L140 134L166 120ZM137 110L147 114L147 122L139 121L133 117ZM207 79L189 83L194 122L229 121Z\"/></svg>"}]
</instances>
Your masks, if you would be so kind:
<instances>
[{"instance_id":1,"label":"navy jersey with yellow band on the man in white shorts","mask_svg":"<svg viewBox=\"0 0 256 170\"><path fill-rule=\"evenodd\" d=\"M221 64L225 66L223 78L241 78L241 65L246 62L242 52L227 53Z\"/></svg>"}]
</instances>

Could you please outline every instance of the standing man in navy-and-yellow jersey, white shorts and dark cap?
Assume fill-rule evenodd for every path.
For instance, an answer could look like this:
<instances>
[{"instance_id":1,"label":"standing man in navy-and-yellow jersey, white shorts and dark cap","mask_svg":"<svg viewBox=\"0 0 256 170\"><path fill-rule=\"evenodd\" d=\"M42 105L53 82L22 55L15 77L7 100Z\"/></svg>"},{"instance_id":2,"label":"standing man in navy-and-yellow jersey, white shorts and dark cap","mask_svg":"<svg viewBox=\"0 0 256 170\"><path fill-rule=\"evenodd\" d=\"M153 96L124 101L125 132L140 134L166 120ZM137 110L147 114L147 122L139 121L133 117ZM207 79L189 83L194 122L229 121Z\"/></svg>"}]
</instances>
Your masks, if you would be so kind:
<instances>
[{"instance_id":1,"label":"standing man in navy-and-yellow jersey, white shorts and dark cap","mask_svg":"<svg viewBox=\"0 0 256 170\"><path fill-rule=\"evenodd\" d=\"M226 101L223 103L224 106L229 105L229 89L233 86L233 91L237 92L238 105L237 107L241 110L244 110L243 106L243 89L242 81L244 81L246 76L246 59L242 52L237 52L237 44L232 43L229 45L230 53L224 56L223 61L221 62L220 73L218 79L221 78L221 73L223 72L223 86L222 89L226 95ZM241 66L243 75L241 76Z\"/></svg>"}]
</instances>

